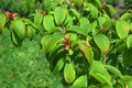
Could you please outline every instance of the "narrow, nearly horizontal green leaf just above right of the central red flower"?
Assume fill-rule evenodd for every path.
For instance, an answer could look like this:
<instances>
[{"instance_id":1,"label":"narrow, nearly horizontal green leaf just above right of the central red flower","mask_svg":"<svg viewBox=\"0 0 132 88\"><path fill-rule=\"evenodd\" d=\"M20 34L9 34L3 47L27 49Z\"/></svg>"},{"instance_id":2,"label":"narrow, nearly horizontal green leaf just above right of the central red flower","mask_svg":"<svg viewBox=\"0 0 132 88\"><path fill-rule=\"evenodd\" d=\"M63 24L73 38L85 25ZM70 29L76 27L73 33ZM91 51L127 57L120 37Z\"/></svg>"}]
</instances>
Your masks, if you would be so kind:
<instances>
[{"instance_id":1,"label":"narrow, nearly horizontal green leaf just above right of the central red flower","mask_svg":"<svg viewBox=\"0 0 132 88\"><path fill-rule=\"evenodd\" d=\"M87 33L88 33L86 29L82 29L77 25L72 26L68 31L73 31L73 32L76 32L76 33L82 34L82 35L87 35Z\"/></svg>"}]
</instances>

